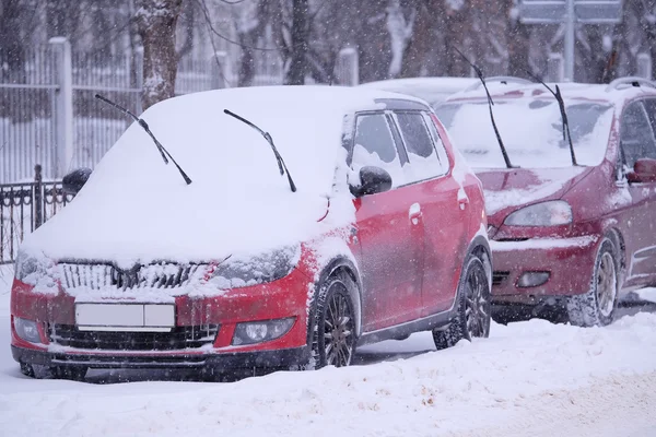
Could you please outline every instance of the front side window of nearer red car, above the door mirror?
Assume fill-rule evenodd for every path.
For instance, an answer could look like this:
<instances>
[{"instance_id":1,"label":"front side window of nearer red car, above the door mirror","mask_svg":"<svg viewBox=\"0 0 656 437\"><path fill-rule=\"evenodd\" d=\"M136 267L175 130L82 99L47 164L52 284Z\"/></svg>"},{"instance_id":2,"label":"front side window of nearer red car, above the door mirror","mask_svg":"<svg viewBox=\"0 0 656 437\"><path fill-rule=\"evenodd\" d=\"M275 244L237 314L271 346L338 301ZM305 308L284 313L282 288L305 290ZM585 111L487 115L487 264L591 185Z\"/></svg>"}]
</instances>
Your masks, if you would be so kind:
<instances>
[{"instance_id":1,"label":"front side window of nearer red car, above the door mirror","mask_svg":"<svg viewBox=\"0 0 656 437\"><path fill-rule=\"evenodd\" d=\"M367 165L387 170L393 187L405 184L396 142L384 114L362 114L355 119L351 168L358 172Z\"/></svg>"}]
</instances>

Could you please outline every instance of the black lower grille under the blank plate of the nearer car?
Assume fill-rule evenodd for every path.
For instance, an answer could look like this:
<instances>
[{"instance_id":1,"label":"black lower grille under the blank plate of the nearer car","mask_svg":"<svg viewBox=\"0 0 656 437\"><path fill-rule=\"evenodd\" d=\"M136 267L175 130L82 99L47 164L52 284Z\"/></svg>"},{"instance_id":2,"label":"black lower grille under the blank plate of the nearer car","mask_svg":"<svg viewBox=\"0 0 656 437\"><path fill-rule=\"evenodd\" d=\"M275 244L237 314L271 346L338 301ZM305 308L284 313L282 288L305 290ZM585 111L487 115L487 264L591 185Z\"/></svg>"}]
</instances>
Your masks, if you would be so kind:
<instances>
[{"instance_id":1,"label":"black lower grille under the blank plate of the nearer car","mask_svg":"<svg viewBox=\"0 0 656 437\"><path fill-rule=\"evenodd\" d=\"M50 324L50 343L84 350L174 351L214 343L218 324L176 327L171 332L80 331L72 324Z\"/></svg>"}]
</instances>

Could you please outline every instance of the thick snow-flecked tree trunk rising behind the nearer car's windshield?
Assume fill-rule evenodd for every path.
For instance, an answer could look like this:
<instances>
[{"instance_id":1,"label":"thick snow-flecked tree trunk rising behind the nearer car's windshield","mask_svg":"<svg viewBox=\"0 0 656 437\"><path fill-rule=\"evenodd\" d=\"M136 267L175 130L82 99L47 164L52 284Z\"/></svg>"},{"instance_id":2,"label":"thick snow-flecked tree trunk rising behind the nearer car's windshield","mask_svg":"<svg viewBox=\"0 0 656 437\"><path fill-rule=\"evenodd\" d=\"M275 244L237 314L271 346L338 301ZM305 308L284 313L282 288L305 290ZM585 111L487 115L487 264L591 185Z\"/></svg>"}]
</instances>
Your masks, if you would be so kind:
<instances>
[{"instance_id":1,"label":"thick snow-flecked tree trunk rising behind the nearer car's windshield","mask_svg":"<svg viewBox=\"0 0 656 437\"><path fill-rule=\"evenodd\" d=\"M183 0L138 0L137 32L143 45L143 93L148 109L175 95L175 28Z\"/></svg>"}]
</instances>

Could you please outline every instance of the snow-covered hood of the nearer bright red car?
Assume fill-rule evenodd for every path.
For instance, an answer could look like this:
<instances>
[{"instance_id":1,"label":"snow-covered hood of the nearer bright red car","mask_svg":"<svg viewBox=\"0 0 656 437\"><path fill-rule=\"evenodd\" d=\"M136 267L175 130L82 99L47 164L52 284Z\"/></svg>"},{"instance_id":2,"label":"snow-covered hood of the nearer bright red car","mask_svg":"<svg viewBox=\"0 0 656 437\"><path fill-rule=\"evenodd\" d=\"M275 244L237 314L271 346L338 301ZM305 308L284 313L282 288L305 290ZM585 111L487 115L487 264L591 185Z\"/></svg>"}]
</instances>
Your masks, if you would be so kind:
<instances>
[{"instance_id":1,"label":"snow-covered hood of the nearer bright red car","mask_svg":"<svg viewBox=\"0 0 656 437\"><path fill-rule=\"evenodd\" d=\"M257 200L151 193L95 198L82 190L62 211L30 235L23 251L54 261L110 262L118 267L157 261L208 262L257 256L308 241L339 226L338 199L290 193ZM128 196L129 197L129 196ZM342 199L343 202L352 201ZM338 218L341 217L341 218Z\"/></svg>"}]
</instances>

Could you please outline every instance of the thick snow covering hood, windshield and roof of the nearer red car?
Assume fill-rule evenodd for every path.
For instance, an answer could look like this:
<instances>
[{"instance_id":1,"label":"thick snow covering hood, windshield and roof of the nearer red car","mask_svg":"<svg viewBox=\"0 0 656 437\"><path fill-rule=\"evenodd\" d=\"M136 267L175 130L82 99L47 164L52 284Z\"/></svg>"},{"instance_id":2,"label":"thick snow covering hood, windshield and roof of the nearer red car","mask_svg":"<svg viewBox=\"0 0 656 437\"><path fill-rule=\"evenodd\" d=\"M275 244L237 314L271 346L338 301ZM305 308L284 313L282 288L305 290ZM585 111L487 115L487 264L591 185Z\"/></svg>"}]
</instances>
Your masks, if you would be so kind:
<instances>
[{"instance_id":1,"label":"thick snow covering hood, windshield and roof of the nearer red car","mask_svg":"<svg viewBox=\"0 0 656 437\"><path fill-rule=\"evenodd\" d=\"M133 123L75 200L23 248L52 259L132 265L257 255L314 238L354 220L352 198L339 188L345 176L336 181L336 168L345 162L344 114L354 106L375 107L375 98L389 96L395 95L288 86L162 102L142 118L194 182L187 186L172 164L164 165L154 143ZM224 108L271 133L297 192L280 175L262 135ZM331 213L319 221L328 203Z\"/></svg>"}]
</instances>

